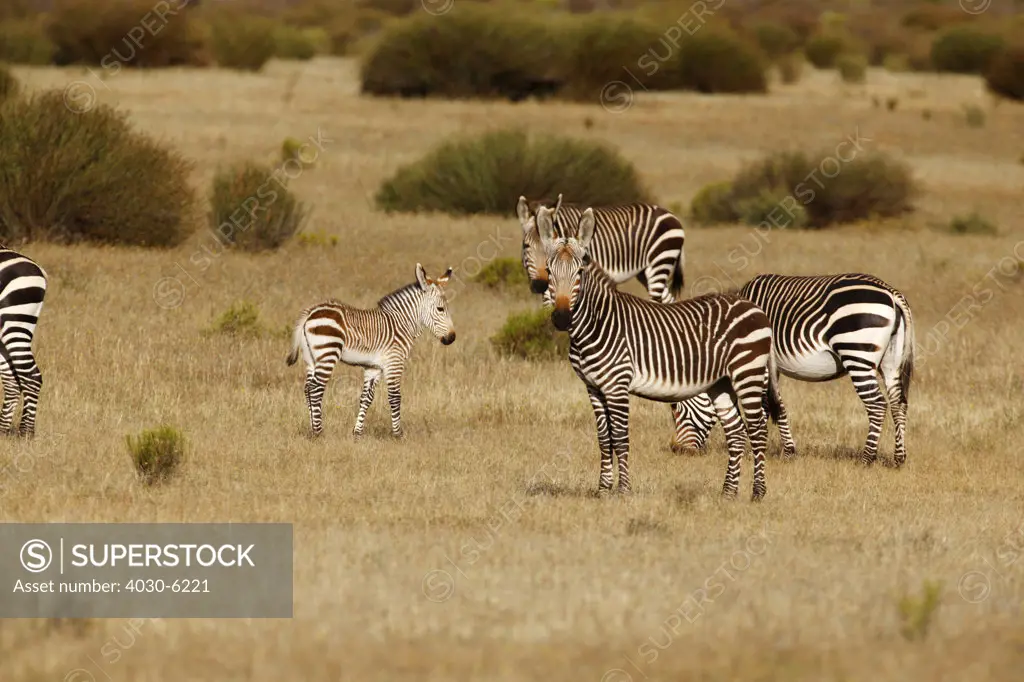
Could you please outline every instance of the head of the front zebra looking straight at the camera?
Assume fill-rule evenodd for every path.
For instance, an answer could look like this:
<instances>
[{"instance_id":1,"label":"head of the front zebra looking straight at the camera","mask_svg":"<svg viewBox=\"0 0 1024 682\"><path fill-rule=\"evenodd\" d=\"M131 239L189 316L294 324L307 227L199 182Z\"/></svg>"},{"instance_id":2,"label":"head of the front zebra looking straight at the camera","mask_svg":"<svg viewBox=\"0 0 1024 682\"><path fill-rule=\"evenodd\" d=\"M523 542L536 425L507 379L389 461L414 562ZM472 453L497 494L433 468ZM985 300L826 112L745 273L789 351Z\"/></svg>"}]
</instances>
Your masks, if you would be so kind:
<instances>
[{"instance_id":1,"label":"head of the front zebra looking straight at the camera","mask_svg":"<svg viewBox=\"0 0 1024 682\"><path fill-rule=\"evenodd\" d=\"M565 332L572 323L572 308L580 295L584 265L590 262L587 250L594 239L594 209L580 217L573 237L561 237L555 229L554 211L542 206L537 210L537 229L545 247L548 270L548 294L554 300L551 322Z\"/></svg>"}]
</instances>

